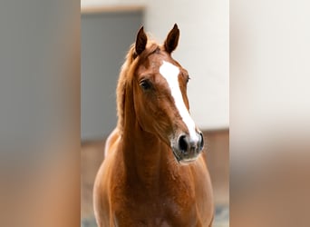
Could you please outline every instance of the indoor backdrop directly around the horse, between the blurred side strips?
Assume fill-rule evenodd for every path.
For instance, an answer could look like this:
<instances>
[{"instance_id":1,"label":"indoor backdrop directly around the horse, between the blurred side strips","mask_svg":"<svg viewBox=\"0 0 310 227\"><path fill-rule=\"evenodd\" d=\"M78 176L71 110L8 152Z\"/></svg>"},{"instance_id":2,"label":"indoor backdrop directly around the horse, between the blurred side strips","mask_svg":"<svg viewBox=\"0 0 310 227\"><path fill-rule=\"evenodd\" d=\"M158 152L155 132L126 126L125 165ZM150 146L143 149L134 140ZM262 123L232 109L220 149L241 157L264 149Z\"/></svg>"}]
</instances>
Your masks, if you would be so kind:
<instances>
[{"instance_id":1,"label":"indoor backdrop directly around the horse, between the blurred side strips","mask_svg":"<svg viewBox=\"0 0 310 227\"><path fill-rule=\"evenodd\" d=\"M228 6L228 1L82 0L82 226L95 226L92 184L105 139L116 125L115 89L124 57L141 25L161 44L175 23L180 39L172 55L189 71L191 115L207 140L214 226L228 226Z\"/></svg>"}]
</instances>

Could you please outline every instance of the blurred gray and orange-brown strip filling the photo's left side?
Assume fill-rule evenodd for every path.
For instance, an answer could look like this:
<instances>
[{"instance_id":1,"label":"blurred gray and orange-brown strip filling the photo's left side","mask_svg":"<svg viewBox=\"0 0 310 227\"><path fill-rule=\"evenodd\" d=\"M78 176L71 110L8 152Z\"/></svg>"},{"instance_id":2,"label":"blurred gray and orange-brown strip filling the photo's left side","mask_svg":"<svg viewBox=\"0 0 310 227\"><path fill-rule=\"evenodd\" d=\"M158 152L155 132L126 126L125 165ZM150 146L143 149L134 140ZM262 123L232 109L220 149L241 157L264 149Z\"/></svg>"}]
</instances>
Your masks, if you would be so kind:
<instances>
[{"instance_id":1,"label":"blurred gray and orange-brown strip filling the photo's left side","mask_svg":"<svg viewBox=\"0 0 310 227\"><path fill-rule=\"evenodd\" d=\"M80 224L75 2L0 2L1 226Z\"/></svg>"}]
</instances>

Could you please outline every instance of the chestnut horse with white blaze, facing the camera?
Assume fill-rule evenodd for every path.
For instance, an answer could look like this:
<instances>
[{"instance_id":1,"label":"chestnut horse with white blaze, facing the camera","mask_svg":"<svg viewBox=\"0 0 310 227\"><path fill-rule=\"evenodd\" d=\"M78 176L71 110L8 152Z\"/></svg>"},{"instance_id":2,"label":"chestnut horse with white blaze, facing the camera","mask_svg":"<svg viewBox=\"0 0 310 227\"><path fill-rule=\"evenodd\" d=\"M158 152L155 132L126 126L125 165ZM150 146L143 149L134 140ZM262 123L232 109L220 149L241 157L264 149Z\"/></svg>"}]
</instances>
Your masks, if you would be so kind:
<instances>
[{"instance_id":1,"label":"chestnut horse with white blaze, facing the camera","mask_svg":"<svg viewBox=\"0 0 310 227\"><path fill-rule=\"evenodd\" d=\"M140 28L121 68L118 124L94 183L98 226L211 226L213 196L204 139L189 115L188 72Z\"/></svg>"}]
</instances>

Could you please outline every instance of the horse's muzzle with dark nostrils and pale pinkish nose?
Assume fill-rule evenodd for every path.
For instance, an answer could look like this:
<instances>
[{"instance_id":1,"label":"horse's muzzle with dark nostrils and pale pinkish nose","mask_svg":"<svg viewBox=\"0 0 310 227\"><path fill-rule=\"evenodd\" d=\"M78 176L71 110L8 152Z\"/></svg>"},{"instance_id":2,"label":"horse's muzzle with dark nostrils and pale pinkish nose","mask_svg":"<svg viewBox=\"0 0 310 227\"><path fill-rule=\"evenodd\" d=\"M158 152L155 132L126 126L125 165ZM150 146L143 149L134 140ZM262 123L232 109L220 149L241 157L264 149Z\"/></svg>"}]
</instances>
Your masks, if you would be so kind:
<instances>
[{"instance_id":1,"label":"horse's muzzle with dark nostrils and pale pinkish nose","mask_svg":"<svg viewBox=\"0 0 310 227\"><path fill-rule=\"evenodd\" d=\"M201 132L190 137L187 133L181 133L173 140L171 148L178 163L189 164L194 162L203 150L204 139Z\"/></svg>"}]
</instances>

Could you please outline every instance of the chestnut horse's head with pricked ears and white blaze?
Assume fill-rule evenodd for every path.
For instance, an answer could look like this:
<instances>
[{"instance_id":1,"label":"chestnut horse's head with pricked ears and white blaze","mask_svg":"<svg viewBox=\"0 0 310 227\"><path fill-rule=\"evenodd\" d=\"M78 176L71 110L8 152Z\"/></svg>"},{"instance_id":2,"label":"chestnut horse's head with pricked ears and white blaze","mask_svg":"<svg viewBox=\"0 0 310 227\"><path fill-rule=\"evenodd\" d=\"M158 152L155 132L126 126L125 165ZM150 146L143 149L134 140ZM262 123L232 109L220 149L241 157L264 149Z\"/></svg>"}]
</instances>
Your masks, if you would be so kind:
<instances>
[{"instance_id":1,"label":"chestnut horse's head with pricked ears and white blaze","mask_svg":"<svg viewBox=\"0 0 310 227\"><path fill-rule=\"evenodd\" d=\"M203 135L189 114L189 73L171 56L179 43L178 25L164 44L148 40L143 27L132 46L133 106L140 128L168 144L178 161L195 161L203 149Z\"/></svg>"}]
</instances>

